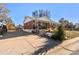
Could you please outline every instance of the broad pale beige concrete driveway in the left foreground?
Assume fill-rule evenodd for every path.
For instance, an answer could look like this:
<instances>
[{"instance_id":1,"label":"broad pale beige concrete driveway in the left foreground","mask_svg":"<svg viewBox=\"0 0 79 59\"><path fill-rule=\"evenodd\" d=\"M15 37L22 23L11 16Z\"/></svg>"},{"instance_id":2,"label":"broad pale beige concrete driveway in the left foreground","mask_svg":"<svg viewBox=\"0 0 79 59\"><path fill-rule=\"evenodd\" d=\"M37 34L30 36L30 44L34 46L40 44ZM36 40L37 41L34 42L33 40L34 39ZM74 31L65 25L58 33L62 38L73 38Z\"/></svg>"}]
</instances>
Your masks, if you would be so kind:
<instances>
[{"instance_id":1,"label":"broad pale beige concrete driveway in the left foreground","mask_svg":"<svg viewBox=\"0 0 79 59\"><path fill-rule=\"evenodd\" d=\"M1 55L31 54L38 50L47 41L46 38L39 37L37 35L20 35L18 32L16 32L16 34L7 33L3 38L0 39Z\"/></svg>"}]
</instances>

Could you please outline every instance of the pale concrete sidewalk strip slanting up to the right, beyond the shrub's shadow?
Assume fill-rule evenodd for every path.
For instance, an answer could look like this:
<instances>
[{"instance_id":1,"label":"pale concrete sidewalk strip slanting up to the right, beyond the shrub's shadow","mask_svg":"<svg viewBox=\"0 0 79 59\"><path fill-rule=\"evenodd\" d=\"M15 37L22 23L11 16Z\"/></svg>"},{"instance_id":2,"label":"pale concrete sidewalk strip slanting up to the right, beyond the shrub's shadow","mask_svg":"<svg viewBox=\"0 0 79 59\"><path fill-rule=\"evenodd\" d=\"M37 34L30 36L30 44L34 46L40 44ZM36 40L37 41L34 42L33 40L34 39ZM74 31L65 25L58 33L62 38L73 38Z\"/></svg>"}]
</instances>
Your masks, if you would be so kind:
<instances>
[{"instance_id":1,"label":"pale concrete sidewalk strip slanting up to the right, beyond the shrub's shadow","mask_svg":"<svg viewBox=\"0 0 79 59\"><path fill-rule=\"evenodd\" d=\"M47 55L69 55L79 49L79 37L64 41L59 46L49 50Z\"/></svg>"}]
</instances>

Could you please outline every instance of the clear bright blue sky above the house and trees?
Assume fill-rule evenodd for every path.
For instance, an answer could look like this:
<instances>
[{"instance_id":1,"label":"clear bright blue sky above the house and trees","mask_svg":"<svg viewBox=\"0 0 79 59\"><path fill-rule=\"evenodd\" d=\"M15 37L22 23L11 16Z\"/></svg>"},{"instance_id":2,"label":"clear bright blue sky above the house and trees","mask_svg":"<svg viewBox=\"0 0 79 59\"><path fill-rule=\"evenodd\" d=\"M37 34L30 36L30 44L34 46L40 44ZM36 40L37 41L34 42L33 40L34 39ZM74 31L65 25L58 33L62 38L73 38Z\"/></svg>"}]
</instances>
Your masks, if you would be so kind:
<instances>
[{"instance_id":1,"label":"clear bright blue sky above the house and trees","mask_svg":"<svg viewBox=\"0 0 79 59\"><path fill-rule=\"evenodd\" d=\"M79 23L79 4L8 3L7 7L10 10L9 16L16 25L23 24L25 16L32 16L32 12L39 9L49 10L53 21L58 21L63 17L70 22Z\"/></svg>"}]
</instances>

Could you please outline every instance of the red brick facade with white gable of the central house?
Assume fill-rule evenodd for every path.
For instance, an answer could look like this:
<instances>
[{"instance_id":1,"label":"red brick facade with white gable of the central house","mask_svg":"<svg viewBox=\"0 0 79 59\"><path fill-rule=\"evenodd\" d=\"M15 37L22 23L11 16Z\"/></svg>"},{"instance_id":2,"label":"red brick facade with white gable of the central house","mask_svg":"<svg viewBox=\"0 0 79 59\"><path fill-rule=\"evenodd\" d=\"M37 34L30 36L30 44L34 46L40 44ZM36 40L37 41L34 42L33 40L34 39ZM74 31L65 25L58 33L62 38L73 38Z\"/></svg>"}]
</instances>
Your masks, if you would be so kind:
<instances>
[{"instance_id":1,"label":"red brick facade with white gable of the central house","mask_svg":"<svg viewBox=\"0 0 79 59\"><path fill-rule=\"evenodd\" d=\"M31 19L31 20L28 21L28 19ZM34 27L38 27L37 25L41 25L41 24L43 25L43 27L46 26L45 28L52 28L52 24L50 21L44 21L44 20L37 21L35 19L32 19L31 17L26 17L25 20L28 22L24 22L24 29L33 29ZM41 26L39 26L39 27L41 27Z\"/></svg>"}]
</instances>

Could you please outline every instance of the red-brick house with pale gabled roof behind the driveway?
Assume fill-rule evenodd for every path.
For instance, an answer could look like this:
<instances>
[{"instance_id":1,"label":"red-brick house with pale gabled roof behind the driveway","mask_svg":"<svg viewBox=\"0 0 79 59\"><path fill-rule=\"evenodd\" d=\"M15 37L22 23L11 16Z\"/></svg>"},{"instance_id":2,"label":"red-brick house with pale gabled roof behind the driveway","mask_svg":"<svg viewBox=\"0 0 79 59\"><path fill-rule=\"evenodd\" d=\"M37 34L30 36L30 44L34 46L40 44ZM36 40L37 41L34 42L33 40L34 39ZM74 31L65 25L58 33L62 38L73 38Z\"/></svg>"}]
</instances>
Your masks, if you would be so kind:
<instances>
[{"instance_id":1,"label":"red-brick house with pale gabled roof behind the driveway","mask_svg":"<svg viewBox=\"0 0 79 59\"><path fill-rule=\"evenodd\" d=\"M52 28L52 21L44 16L44 17L29 17L25 16L24 18L24 29L47 29L47 28Z\"/></svg>"}]
</instances>

